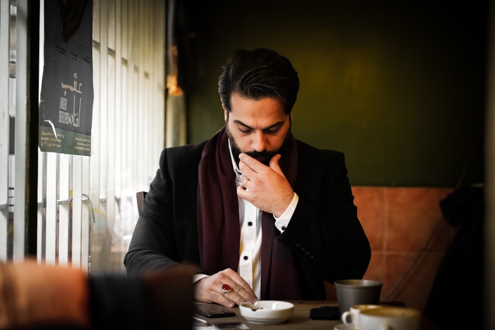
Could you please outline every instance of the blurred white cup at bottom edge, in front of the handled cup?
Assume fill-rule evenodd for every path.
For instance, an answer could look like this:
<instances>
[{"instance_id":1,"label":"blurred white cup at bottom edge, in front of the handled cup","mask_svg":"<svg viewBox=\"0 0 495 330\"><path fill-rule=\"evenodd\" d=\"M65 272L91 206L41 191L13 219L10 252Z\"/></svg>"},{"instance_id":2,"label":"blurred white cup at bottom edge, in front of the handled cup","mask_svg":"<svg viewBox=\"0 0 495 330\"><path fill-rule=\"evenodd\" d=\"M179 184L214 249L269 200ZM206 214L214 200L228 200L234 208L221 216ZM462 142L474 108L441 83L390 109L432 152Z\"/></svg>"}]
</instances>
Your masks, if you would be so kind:
<instances>
[{"instance_id":1,"label":"blurred white cup at bottom edge, in front of the handled cup","mask_svg":"<svg viewBox=\"0 0 495 330\"><path fill-rule=\"evenodd\" d=\"M383 307L361 311L359 330L419 330L421 312L406 307Z\"/></svg>"}]
</instances>

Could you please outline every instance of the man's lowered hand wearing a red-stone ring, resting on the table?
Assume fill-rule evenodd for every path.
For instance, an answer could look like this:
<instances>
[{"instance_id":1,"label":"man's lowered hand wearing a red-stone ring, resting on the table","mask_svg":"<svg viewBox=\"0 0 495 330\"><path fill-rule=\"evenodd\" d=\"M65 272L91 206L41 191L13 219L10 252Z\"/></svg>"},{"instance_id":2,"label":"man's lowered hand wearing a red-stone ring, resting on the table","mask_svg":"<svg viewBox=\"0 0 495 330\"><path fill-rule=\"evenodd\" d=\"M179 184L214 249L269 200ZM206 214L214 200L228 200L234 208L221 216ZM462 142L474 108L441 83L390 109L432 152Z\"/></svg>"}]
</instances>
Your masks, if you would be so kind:
<instances>
[{"instance_id":1,"label":"man's lowered hand wearing a red-stone ring, resting on the table","mask_svg":"<svg viewBox=\"0 0 495 330\"><path fill-rule=\"evenodd\" d=\"M199 280L195 283L194 291L196 300L207 303L215 302L225 307L234 307L246 301L257 300L249 284L232 269L226 269Z\"/></svg>"}]
</instances>

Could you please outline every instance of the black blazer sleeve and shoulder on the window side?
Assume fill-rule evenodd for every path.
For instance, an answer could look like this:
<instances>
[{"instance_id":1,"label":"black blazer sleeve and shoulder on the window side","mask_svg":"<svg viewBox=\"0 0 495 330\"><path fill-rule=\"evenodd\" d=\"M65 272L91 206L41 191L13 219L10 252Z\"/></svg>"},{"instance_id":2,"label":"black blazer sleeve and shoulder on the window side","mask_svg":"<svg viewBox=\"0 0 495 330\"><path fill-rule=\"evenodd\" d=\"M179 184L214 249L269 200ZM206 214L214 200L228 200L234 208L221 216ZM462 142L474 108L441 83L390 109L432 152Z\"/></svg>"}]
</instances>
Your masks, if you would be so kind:
<instances>
[{"instance_id":1,"label":"black blazer sleeve and shoulder on the window side","mask_svg":"<svg viewBox=\"0 0 495 330\"><path fill-rule=\"evenodd\" d=\"M179 264L198 267L196 201L201 150L202 145L187 145L162 151L124 257L127 274Z\"/></svg>"}]
</instances>

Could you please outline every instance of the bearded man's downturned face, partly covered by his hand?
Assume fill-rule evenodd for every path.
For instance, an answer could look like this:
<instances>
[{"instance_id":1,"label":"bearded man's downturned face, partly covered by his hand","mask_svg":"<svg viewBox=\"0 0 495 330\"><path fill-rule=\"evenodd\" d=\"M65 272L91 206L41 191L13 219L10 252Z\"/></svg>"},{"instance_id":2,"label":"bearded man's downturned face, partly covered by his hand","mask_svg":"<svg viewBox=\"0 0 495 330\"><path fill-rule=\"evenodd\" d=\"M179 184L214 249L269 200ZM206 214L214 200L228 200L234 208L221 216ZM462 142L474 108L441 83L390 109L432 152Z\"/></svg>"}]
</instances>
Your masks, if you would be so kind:
<instances>
[{"instance_id":1,"label":"bearded man's downturned face, partly covered by his hand","mask_svg":"<svg viewBox=\"0 0 495 330\"><path fill-rule=\"evenodd\" d=\"M223 107L234 159L239 163L243 152L268 165L286 140L290 114L285 114L282 103L271 97L253 100L232 93L230 106L230 112Z\"/></svg>"}]
</instances>

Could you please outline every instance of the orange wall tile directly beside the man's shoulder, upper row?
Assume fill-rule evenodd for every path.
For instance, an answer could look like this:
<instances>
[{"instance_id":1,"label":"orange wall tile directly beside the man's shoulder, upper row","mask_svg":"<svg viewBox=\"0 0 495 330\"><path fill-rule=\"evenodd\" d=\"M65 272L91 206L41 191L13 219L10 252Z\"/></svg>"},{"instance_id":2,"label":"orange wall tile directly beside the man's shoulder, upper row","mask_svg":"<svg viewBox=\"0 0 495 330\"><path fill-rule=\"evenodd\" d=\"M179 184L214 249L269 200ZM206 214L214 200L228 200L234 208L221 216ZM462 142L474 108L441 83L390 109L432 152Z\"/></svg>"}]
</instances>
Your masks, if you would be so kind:
<instances>
[{"instance_id":1,"label":"orange wall tile directly beside the man's shoulder, upper row","mask_svg":"<svg viewBox=\"0 0 495 330\"><path fill-rule=\"evenodd\" d=\"M385 191L380 187L352 187L357 217L370 241L371 251L383 251L385 239Z\"/></svg>"}]
</instances>

